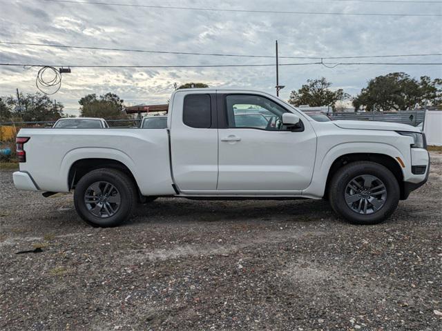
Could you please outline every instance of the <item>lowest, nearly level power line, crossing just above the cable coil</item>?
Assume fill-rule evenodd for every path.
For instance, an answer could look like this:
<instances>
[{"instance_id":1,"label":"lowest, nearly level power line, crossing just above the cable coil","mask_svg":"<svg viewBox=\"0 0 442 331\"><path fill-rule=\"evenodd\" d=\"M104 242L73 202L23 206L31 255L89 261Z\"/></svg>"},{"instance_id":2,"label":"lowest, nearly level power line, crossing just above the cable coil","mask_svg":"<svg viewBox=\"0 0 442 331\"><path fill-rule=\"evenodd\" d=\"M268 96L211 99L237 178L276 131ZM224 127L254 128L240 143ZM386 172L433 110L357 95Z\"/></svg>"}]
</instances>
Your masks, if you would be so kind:
<instances>
[{"instance_id":1,"label":"lowest, nearly level power line, crossing just above the cable coil","mask_svg":"<svg viewBox=\"0 0 442 331\"><path fill-rule=\"evenodd\" d=\"M327 63L327 62L308 62L308 63L279 63L279 66L311 66L315 64L320 64L323 66L332 66L329 68L334 68L336 66L442 66L442 62L436 63L389 63L389 62L340 62L340 63ZM108 65L74 65L66 66L55 65L55 64L29 64L29 63L0 63L0 66L16 66L16 67L67 67L67 68L227 68L227 67L273 67L274 63L265 64L208 64L208 65L189 65L189 66L108 66Z\"/></svg>"}]
</instances>

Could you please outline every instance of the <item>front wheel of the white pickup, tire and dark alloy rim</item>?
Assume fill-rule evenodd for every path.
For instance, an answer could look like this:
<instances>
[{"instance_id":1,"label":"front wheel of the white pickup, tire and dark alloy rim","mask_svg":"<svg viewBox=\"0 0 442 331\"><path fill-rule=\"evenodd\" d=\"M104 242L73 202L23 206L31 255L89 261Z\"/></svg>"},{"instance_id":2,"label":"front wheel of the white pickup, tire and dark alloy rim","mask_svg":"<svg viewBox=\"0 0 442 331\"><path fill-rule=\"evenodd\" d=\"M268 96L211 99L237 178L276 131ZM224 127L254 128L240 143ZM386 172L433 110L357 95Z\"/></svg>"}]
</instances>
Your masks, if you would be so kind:
<instances>
[{"instance_id":1,"label":"front wheel of the white pickup, tire and dark alloy rim","mask_svg":"<svg viewBox=\"0 0 442 331\"><path fill-rule=\"evenodd\" d=\"M370 161L345 165L334 174L329 185L333 210L354 224L381 223L396 210L400 195L394 174Z\"/></svg>"}]
</instances>

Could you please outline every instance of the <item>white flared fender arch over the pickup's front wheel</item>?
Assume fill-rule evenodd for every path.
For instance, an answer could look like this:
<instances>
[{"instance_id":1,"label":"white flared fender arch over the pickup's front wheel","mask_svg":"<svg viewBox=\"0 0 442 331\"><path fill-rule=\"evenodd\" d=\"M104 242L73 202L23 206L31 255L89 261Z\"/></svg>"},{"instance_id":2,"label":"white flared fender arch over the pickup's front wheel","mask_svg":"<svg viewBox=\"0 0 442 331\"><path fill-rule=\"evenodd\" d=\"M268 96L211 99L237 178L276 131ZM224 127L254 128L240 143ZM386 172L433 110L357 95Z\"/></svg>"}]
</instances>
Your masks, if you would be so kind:
<instances>
[{"instance_id":1,"label":"white flared fender arch over the pickup's front wheel","mask_svg":"<svg viewBox=\"0 0 442 331\"><path fill-rule=\"evenodd\" d=\"M407 164L407 157L398 150L395 146L388 143L371 143L371 142L351 142L340 143L330 148L325 154L316 157L314 166L313 179L307 189L302 191L302 195L313 198L322 198L325 192L325 185L330 168L336 159L346 154L355 153L369 153L369 154L384 154L387 157L392 157L396 162L396 157L400 157L405 164ZM400 163L398 163L401 165ZM404 169L401 167L404 174Z\"/></svg>"}]
</instances>

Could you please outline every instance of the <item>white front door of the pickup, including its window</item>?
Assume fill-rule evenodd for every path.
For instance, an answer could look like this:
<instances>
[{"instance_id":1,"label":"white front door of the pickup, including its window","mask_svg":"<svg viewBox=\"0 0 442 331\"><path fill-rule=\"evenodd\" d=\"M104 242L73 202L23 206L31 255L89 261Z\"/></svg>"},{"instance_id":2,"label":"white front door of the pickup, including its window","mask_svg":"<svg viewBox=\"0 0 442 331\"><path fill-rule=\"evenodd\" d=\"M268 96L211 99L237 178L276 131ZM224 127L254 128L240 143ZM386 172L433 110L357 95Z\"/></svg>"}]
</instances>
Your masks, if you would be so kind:
<instances>
[{"instance_id":1,"label":"white front door of the pickup, including its window","mask_svg":"<svg viewBox=\"0 0 442 331\"><path fill-rule=\"evenodd\" d=\"M218 194L296 194L309 186L316 134L305 117L298 128L283 126L289 110L265 94L219 92L217 103Z\"/></svg>"}]
</instances>

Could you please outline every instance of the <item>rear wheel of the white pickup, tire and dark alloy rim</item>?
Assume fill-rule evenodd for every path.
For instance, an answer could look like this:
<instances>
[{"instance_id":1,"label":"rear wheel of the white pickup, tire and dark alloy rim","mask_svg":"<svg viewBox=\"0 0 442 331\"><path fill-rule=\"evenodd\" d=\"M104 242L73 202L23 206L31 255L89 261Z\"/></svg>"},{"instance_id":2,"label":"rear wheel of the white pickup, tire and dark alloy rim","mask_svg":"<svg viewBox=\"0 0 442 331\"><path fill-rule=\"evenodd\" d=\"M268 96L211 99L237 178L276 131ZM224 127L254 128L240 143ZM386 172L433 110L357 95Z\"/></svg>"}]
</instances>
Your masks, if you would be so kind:
<instances>
[{"instance_id":1,"label":"rear wheel of the white pickup, tire and dark alloy rim","mask_svg":"<svg viewBox=\"0 0 442 331\"><path fill-rule=\"evenodd\" d=\"M109 228L131 218L137 191L123 172L101 168L85 174L74 192L75 210L86 223Z\"/></svg>"}]
</instances>

